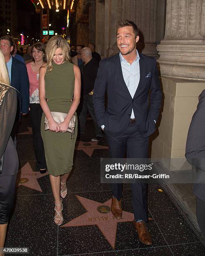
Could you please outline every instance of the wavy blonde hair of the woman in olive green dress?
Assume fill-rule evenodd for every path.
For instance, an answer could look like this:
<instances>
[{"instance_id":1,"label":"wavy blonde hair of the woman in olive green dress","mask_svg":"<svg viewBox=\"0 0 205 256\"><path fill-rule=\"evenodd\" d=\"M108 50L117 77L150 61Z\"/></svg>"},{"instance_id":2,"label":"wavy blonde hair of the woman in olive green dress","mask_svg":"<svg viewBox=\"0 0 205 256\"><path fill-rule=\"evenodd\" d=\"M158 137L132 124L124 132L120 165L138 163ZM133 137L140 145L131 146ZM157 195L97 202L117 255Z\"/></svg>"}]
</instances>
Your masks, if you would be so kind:
<instances>
[{"instance_id":1,"label":"wavy blonde hair of the woman in olive green dress","mask_svg":"<svg viewBox=\"0 0 205 256\"><path fill-rule=\"evenodd\" d=\"M62 50L62 56L64 57L65 61L71 62L70 46L66 39L61 35L52 36L52 38L48 40L45 49L47 67L49 72L52 70L52 59L57 48L60 48Z\"/></svg>"}]
</instances>

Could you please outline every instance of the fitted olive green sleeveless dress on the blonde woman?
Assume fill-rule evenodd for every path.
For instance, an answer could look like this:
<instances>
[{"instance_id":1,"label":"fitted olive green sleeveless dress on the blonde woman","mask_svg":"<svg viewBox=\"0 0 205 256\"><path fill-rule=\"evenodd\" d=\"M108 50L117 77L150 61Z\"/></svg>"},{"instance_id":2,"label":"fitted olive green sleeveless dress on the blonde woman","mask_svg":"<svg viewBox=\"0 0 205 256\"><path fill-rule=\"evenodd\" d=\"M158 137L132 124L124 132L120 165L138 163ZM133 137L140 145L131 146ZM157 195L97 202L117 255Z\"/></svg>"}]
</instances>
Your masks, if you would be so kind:
<instances>
[{"instance_id":1,"label":"fitted olive green sleeveless dress on the blonde woman","mask_svg":"<svg viewBox=\"0 0 205 256\"><path fill-rule=\"evenodd\" d=\"M45 74L45 96L50 111L68 113L74 92L75 74L73 64L65 61L57 65L52 62L53 69ZM55 133L44 130L45 114L41 119L41 136L45 148L45 159L49 174L53 176L69 173L72 169L72 160L77 137L77 118L75 123L74 139L71 133Z\"/></svg>"}]
</instances>

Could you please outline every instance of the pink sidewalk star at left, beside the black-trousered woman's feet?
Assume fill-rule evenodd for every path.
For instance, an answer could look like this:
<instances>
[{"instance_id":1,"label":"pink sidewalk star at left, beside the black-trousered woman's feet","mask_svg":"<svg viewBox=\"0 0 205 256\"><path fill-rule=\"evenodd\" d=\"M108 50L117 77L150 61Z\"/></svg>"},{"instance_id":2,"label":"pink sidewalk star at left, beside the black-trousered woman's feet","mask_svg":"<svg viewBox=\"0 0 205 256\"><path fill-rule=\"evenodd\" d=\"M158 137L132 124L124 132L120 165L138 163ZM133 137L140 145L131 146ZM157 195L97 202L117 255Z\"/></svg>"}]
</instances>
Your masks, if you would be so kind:
<instances>
[{"instance_id":1,"label":"pink sidewalk star at left, beside the black-trousered woman's feet","mask_svg":"<svg viewBox=\"0 0 205 256\"><path fill-rule=\"evenodd\" d=\"M33 172L29 162L27 162L18 171L16 187L25 186L25 187L29 187L30 189L34 189L42 192L42 189L40 188L40 185L37 179L45 175L48 175L48 172L44 174L40 174L40 172Z\"/></svg>"}]
</instances>

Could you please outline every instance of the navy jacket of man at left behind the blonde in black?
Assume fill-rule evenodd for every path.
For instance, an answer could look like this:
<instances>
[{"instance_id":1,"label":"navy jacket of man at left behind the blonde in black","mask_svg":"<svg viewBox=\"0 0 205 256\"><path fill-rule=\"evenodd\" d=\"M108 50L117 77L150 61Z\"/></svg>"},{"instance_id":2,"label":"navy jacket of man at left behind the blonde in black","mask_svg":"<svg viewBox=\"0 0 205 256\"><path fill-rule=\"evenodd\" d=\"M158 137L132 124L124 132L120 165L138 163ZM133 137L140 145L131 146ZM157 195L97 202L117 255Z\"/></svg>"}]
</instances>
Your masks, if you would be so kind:
<instances>
[{"instance_id":1,"label":"navy jacket of man at left behind the blonde in black","mask_svg":"<svg viewBox=\"0 0 205 256\"><path fill-rule=\"evenodd\" d=\"M11 66L11 86L18 90L18 108L16 116L20 117L20 113L28 113L29 79L25 64L14 57L12 57Z\"/></svg>"}]
</instances>

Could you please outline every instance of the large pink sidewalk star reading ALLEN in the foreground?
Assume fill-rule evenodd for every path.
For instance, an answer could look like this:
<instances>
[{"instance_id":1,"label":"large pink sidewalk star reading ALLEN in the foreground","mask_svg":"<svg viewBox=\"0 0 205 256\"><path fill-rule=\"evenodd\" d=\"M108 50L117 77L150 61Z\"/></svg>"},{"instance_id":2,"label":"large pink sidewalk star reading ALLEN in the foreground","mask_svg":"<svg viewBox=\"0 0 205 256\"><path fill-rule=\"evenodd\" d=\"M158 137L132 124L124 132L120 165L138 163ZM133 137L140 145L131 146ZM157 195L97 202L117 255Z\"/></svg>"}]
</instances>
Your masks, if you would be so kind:
<instances>
[{"instance_id":1,"label":"large pink sidewalk star reading ALLEN in the foreground","mask_svg":"<svg viewBox=\"0 0 205 256\"><path fill-rule=\"evenodd\" d=\"M134 215L131 212L122 211L122 219L115 219L112 215L112 212L102 213L98 212L97 208L106 210L106 206L111 207L112 198L107 200L104 203L96 202L85 197L77 196L77 199L81 202L83 207L87 212L78 216L77 218L70 220L63 227L75 227L75 226L88 226L88 225L97 225L102 234L107 239L108 243L115 249L115 240L117 233L117 223L119 222L130 222L133 221ZM105 206L105 207L103 207ZM99 208L98 208L99 209Z\"/></svg>"}]
</instances>

